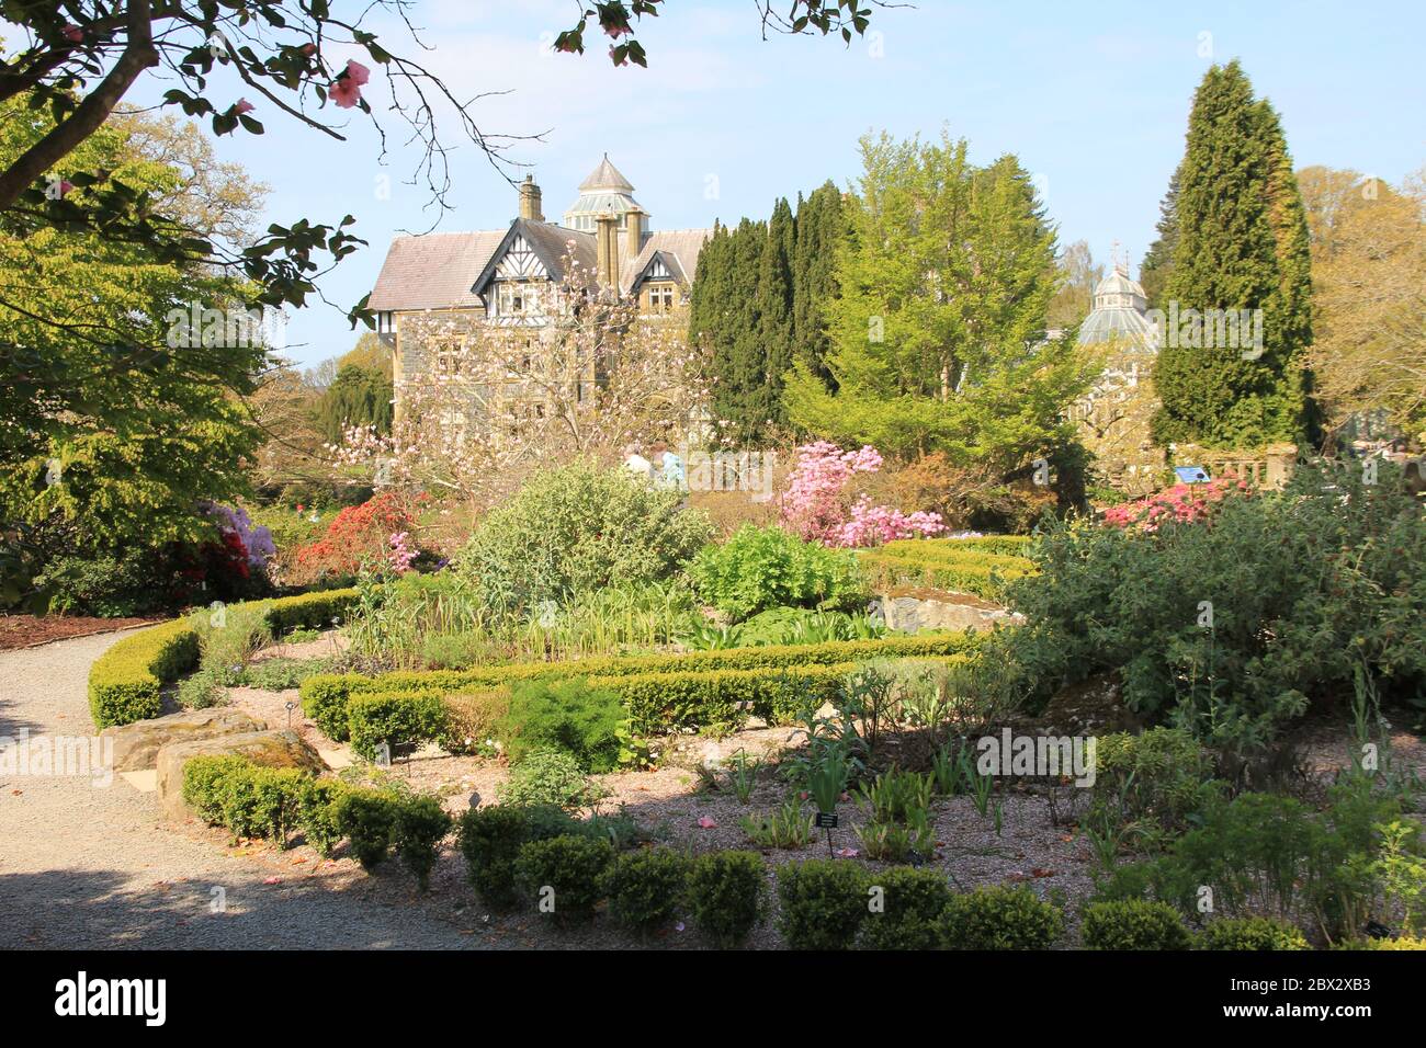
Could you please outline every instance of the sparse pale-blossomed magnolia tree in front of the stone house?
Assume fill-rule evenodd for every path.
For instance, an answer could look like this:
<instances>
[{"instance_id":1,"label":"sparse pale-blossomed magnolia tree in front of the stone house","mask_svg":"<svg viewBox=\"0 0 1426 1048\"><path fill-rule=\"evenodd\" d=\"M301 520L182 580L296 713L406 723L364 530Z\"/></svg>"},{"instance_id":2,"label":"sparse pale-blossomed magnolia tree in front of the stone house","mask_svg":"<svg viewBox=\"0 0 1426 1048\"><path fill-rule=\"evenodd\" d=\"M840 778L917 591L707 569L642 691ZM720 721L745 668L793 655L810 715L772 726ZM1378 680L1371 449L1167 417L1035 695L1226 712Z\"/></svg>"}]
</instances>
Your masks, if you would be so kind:
<instances>
[{"instance_id":1,"label":"sparse pale-blossomed magnolia tree in front of the stone house","mask_svg":"<svg viewBox=\"0 0 1426 1048\"><path fill-rule=\"evenodd\" d=\"M401 386L391 436L349 426L329 446L338 473L479 508L540 466L613 462L630 443L682 442L707 399L683 332L642 321L636 304L597 288L572 258L563 268L565 282L540 304L543 327L414 318L402 338L424 346L422 381Z\"/></svg>"}]
</instances>

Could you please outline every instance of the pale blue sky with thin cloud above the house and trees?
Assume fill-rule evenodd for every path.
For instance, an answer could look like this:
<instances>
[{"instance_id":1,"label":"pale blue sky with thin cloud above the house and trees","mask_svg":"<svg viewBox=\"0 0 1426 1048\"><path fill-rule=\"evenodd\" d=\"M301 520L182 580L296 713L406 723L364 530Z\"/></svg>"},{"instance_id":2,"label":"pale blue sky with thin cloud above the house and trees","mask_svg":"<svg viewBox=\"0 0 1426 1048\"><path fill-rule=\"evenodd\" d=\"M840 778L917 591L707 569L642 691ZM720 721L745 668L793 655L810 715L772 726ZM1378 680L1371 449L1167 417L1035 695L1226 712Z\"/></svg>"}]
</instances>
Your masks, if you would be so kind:
<instances>
[{"instance_id":1,"label":"pale blue sky with thin cloud above the house and trees","mask_svg":"<svg viewBox=\"0 0 1426 1048\"><path fill-rule=\"evenodd\" d=\"M787 0L774 0L784 6ZM365 4L335 0L334 11ZM1239 58L1282 115L1298 167L1349 167L1396 183L1426 165L1426 4L1286 3L948 3L876 10L850 47L821 37L761 38L753 0L666 0L637 37L649 68L615 68L597 29L585 56L553 54L575 0L414 0L422 46L396 23L371 24L388 50L419 60L486 134L513 141L505 171L533 173L546 218L558 221L607 151L636 187L652 228L766 218L829 178L853 187L857 140L886 130L937 137L943 128L988 163L1014 153L1034 173L1061 244L1112 245L1137 272L1158 204L1184 150L1192 94L1205 70ZM425 50L424 50L425 48ZM342 53L339 58L355 57ZM171 84L150 80L135 101ZM211 94L222 97L221 80ZM234 100L241 86L231 87ZM516 214L506 175L438 113L449 154L451 210L409 184L421 151L389 113L379 71L366 100L386 130L328 110L335 141L252 97L261 137L218 144L224 160L267 183L265 222L356 218L369 247L321 282L329 305L292 311L287 356L302 365L356 339L345 311L366 294L391 238L431 228L503 230ZM538 138L532 135L539 135Z\"/></svg>"}]
</instances>

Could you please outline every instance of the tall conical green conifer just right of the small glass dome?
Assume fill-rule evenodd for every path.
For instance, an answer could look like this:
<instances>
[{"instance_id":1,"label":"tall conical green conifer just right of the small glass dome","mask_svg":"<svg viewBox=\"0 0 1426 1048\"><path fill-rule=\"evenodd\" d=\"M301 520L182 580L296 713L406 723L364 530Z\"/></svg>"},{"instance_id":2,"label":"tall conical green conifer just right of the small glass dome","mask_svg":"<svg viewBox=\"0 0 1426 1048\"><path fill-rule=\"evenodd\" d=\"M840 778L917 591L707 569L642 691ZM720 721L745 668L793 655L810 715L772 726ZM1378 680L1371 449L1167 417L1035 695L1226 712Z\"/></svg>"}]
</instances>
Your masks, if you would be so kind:
<instances>
[{"instance_id":1,"label":"tall conical green conifer just right of the small glass dome","mask_svg":"<svg viewBox=\"0 0 1426 1048\"><path fill-rule=\"evenodd\" d=\"M1312 422L1306 214L1278 114L1253 98L1236 61L1199 84L1175 211L1164 299L1181 312L1261 309L1263 338L1259 354L1225 345L1214 325L1168 331L1154 372L1155 436L1222 448L1302 439Z\"/></svg>"}]
</instances>

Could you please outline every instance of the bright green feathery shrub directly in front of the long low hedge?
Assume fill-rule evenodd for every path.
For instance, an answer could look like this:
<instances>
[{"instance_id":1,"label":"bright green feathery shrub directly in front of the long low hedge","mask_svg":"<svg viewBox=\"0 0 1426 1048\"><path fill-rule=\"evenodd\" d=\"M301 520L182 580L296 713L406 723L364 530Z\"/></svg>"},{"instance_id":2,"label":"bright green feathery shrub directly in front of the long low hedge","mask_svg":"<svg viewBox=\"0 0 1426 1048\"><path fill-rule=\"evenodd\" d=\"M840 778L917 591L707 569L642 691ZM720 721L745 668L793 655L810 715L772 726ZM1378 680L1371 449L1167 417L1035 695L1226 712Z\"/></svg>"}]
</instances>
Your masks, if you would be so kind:
<instances>
[{"instance_id":1,"label":"bright green feathery shrub directly in front of the long low hedge","mask_svg":"<svg viewBox=\"0 0 1426 1048\"><path fill-rule=\"evenodd\" d=\"M515 684L501 740L512 764L539 750L559 750L585 771L619 767L620 729L629 720L619 696L588 680L526 680Z\"/></svg>"}]
</instances>

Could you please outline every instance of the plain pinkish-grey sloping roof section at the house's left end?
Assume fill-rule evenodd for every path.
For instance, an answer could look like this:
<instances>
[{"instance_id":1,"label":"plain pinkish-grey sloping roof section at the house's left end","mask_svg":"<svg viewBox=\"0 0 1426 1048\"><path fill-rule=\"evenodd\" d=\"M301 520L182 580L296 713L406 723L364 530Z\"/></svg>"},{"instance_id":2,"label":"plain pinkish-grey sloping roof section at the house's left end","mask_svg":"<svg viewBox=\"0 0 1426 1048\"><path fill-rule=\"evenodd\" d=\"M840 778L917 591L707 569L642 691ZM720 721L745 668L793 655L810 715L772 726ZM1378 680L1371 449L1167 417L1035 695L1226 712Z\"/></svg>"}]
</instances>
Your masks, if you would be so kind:
<instances>
[{"instance_id":1,"label":"plain pinkish-grey sloping roof section at the house's left end","mask_svg":"<svg viewBox=\"0 0 1426 1048\"><path fill-rule=\"evenodd\" d=\"M386 251L368 307L388 312L479 305L471 285L503 237L503 230L396 237Z\"/></svg>"}]
</instances>

